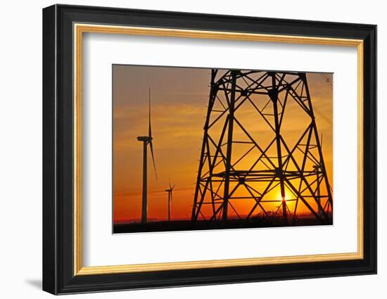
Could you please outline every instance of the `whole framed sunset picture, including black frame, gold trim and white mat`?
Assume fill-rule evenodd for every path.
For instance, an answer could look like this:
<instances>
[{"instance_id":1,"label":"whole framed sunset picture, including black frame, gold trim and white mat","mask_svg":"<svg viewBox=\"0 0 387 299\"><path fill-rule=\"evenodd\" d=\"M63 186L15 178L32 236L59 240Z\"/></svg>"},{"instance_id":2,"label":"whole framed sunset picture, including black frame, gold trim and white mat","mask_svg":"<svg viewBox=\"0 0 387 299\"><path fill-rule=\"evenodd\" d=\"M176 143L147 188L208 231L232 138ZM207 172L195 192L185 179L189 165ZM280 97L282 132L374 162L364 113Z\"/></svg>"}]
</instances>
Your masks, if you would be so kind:
<instances>
[{"instance_id":1,"label":"whole framed sunset picture, including black frame, gold trim and white mat","mask_svg":"<svg viewBox=\"0 0 387 299\"><path fill-rule=\"evenodd\" d=\"M43 10L43 289L376 273L376 25Z\"/></svg>"}]
</instances>

